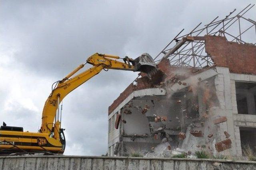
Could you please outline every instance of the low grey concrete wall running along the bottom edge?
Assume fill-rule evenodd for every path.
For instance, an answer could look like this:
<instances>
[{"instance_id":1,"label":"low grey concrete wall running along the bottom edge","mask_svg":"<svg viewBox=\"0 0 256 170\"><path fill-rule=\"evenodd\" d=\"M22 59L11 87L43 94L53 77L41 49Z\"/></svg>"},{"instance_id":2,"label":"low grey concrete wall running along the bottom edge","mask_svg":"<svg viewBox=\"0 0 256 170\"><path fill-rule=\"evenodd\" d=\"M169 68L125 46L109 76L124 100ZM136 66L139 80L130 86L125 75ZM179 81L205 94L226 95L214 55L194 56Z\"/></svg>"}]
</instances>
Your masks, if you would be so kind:
<instances>
[{"instance_id":1,"label":"low grey concrete wall running along the bottom edge","mask_svg":"<svg viewBox=\"0 0 256 170\"><path fill-rule=\"evenodd\" d=\"M256 162L186 158L2 156L0 170L256 170Z\"/></svg>"}]
</instances>

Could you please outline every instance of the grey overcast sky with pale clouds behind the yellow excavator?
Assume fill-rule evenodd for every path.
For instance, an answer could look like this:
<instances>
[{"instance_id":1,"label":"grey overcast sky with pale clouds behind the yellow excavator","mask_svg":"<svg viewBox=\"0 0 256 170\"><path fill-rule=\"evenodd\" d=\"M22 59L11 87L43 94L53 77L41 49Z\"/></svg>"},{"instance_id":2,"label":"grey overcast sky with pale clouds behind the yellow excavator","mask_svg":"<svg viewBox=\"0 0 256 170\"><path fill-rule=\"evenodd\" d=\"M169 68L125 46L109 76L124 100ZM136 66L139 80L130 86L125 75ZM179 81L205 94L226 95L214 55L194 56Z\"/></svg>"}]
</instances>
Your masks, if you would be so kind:
<instances>
[{"instance_id":1,"label":"grey overcast sky with pale clouds behind the yellow excavator","mask_svg":"<svg viewBox=\"0 0 256 170\"><path fill-rule=\"evenodd\" d=\"M91 54L154 57L182 28L250 3L255 1L1 0L0 121L37 132L52 83ZM102 71L63 100L64 154L107 152L108 106L137 74Z\"/></svg>"}]
</instances>

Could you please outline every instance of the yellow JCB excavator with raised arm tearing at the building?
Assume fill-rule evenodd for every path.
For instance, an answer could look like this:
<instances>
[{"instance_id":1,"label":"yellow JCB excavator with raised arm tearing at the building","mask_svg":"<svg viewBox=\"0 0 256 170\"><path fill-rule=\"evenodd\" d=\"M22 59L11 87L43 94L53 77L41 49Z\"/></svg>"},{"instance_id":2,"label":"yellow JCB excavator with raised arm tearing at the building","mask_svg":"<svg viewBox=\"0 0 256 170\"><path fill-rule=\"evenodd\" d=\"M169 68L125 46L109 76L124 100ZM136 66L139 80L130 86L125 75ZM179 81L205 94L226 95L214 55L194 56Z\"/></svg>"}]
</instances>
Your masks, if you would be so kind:
<instances>
[{"instance_id":1,"label":"yellow JCB excavator with raised arm tearing at the building","mask_svg":"<svg viewBox=\"0 0 256 170\"><path fill-rule=\"evenodd\" d=\"M128 70L147 74L156 71L156 64L147 53L143 53L135 60L127 56L122 58L124 62L116 59L120 57L95 53L86 60L86 63L93 65L92 68L74 76L86 63L81 64L65 78L55 82L44 104L42 125L37 133L23 132L22 127L6 126L3 123L0 127L0 154L63 154L66 141L60 123L60 102L67 94L102 70Z\"/></svg>"}]
</instances>

